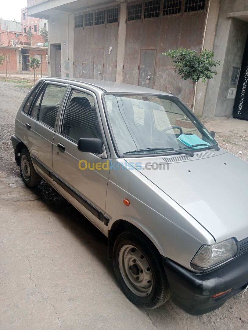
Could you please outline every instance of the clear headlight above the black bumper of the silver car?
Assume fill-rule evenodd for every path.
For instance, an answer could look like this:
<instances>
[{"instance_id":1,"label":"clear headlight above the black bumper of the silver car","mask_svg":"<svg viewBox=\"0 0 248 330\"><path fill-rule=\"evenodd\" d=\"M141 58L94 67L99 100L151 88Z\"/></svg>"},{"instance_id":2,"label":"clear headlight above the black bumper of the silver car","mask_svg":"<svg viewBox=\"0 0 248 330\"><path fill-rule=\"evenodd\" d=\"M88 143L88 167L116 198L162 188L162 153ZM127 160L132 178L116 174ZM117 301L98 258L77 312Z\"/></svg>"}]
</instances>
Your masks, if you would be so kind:
<instances>
[{"instance_id":1,"label":"clear headlight above the black bumper of the silver car","mask_svg":"<svg viewBox=\"0 0 248 330\"><path fill-rule=\"evenodd\" d=\"M227 241L203 245L191 263L200 268L209 268L222 261L232 258L237 253L237 245L233 238Z\"/></svg>"}]
</instances>

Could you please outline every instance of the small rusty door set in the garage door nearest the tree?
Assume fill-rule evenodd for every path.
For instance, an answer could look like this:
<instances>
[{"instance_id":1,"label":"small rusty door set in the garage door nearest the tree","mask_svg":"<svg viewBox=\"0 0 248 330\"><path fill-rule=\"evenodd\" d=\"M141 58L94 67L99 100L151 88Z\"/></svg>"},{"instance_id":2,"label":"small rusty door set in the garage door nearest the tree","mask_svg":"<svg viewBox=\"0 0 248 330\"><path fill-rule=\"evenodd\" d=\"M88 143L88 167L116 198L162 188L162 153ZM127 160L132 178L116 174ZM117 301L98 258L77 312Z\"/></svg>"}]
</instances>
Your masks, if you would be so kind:
<instances>
[{"instance_id":1,"label":"small rusty door set in the garage door nearest the tree","mask_svg":"<svg viewBox=\"0 0 248 330\"><path fill-rule=\"evenodd\" d=\"M156 49L141 50L139 86L153 88L156 52Z\"/></svg>"}]
</instances>

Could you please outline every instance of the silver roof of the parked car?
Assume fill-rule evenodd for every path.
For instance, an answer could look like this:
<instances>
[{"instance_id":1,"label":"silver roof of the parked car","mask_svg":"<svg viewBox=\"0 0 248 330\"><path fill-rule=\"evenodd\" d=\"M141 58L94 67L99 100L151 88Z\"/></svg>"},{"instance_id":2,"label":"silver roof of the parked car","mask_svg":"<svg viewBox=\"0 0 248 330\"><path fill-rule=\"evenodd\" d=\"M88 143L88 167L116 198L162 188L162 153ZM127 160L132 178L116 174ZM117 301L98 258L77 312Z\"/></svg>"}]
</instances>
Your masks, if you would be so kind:
<instances>
[{"instance_id":1,"label":"silver roof of the parked car","mask_svg":"<svg viewBox=\"0 0 248 330\"><path fill-rule=\"evenodd\" d=\"M141 93L141 94L162 94L162 95L172 95L160 90L141 87L135 85L129 85L125 83L119 82L109 82L104 80L94 80L94 79L83 79L83 78L58 78L58 77L49 77L49 78L41 78L42 80L50 80L55 82L68 82L68 83L76 83L76 85L80 86L82 84L88 84L90 86L94 86L96 88L101 89L103 92L109 93ZM83 87L83 86L82 86Z\"/></svg>"}]
</instances>

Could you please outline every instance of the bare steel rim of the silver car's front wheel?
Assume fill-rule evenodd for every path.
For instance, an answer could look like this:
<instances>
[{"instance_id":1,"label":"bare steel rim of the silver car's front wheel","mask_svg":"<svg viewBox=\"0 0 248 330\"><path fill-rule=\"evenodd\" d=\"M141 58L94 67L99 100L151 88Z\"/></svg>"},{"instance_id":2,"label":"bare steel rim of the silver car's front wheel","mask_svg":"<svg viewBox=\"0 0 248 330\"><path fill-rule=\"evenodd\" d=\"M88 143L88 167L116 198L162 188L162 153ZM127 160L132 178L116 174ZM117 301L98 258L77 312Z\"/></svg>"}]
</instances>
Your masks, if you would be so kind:
<instances>
[{"instance_id":1,"label":"bare steel rim of the silver car's front wheel","mask_svg":"<svg viewBox=\"0 0 248 330\"><path fill-rule=\"evenodd\" d=\"M119 253L119 267L127 287L139 297L152 291L152 271L144 254L133 245L124 245Z\"/></svg>"}]
</instances>

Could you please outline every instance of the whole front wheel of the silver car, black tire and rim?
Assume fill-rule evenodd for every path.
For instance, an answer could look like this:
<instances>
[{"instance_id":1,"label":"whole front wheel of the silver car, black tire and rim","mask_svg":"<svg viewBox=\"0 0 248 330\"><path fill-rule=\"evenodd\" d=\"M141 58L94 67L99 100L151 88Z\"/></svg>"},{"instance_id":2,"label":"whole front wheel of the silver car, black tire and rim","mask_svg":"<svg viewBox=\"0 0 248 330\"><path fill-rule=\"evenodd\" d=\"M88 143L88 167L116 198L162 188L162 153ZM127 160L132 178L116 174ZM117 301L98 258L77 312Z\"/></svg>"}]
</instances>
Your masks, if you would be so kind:
<instances>
[{"instance_id":1,"label":"whole front wheel of the silver car, black tire and rim","mask_svg":"<svg viewBox=\"0 0 248 330\"><path fill-rule=\"evenodd\" d=\"M113 248L113 264L122 291L136 306L152 309L170 298L161 255L145 235L120 234Z\"/></svg>"}]
</instances>

